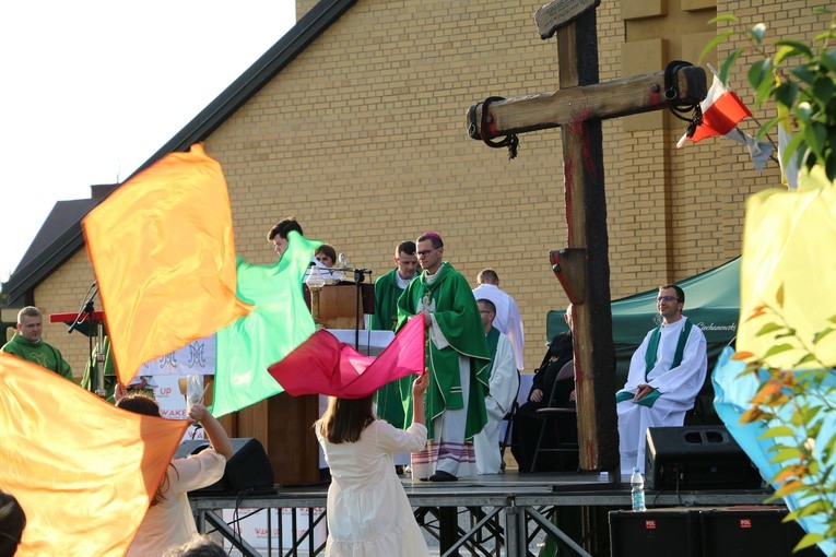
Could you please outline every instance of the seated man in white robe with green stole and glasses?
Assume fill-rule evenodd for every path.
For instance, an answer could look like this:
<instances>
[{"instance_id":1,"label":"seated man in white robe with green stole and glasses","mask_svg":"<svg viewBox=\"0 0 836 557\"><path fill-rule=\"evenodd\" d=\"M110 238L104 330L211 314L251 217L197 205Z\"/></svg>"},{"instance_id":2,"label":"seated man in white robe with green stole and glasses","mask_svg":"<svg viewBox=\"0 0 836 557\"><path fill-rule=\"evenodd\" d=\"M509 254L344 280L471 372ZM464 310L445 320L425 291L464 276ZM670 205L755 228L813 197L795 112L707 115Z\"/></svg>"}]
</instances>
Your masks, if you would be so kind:
<instances>
[{"instance_id":1,"label":"seated man in white robe with green stole and glasses","mask_svg":"<svg viewBox=\"0 0 836 557\"><path fill-rule=\"evenodd\" d=\"M648 427L681 426L694 406L708 367L703 331L682 315L685 293L659 287L656 307L662 324L647 333L633 354L624 389L615 393L621 473L645 472Z\"/></svg>"}]
</instances>

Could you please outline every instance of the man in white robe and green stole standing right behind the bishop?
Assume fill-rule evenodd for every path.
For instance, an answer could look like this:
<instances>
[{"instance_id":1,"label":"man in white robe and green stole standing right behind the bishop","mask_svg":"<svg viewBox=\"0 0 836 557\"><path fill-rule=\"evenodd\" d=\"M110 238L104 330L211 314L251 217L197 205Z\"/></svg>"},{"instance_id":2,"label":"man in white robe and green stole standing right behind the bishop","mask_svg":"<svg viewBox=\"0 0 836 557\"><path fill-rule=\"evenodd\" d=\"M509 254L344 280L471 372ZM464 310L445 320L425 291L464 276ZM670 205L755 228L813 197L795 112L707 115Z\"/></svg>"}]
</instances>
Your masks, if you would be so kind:
<instances>
[{"instance_id":1,"label":"man in white robe and green stole standing right behind the bishop","mask_svg":"<svg viewBox=\"0 0 836 557\"><path fill-rule=\"evenodd\" d=\"M485 396L487 424L473 437L479 474L502 473L499 454L499 426L511 407L519 389L519 376L514 360L514 351L506 335L493 327L496 307L491 300L476 300L482 324L485 327L487 348L491 352L491 391Z\"/></svg>"}]
</instances>

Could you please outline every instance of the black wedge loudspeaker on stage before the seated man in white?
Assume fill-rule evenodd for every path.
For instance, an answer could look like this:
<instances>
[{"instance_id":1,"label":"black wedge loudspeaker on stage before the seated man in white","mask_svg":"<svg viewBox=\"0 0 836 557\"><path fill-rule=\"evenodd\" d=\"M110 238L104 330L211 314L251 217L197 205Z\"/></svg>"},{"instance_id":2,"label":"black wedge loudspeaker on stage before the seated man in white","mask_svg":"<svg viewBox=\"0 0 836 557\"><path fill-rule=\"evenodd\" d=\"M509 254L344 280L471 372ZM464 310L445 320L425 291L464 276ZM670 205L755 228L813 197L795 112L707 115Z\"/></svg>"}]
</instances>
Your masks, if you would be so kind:
<instances>
[{"instance_id":1,"label":"black wedge loudspeaker on stage before the seated man in white","mask_svg":"<svg viewBox=\"0 0 836 557\"><path fill-rule=\"evenodd\" d=\"M648 489L755 489L761 475L723 426L647 428Z\"/></svg>"}]
</instances>

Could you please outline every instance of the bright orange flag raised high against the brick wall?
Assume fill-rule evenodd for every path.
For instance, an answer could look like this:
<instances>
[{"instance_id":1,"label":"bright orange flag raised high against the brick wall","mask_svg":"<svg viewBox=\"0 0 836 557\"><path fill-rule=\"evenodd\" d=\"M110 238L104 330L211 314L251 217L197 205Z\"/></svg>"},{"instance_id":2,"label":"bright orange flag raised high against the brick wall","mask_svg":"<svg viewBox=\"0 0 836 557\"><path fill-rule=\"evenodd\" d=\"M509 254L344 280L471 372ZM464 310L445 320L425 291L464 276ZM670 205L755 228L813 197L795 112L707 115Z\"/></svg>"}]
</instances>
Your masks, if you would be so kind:
<instances>
[{"instance_id":1,"label":"bright orange flag raised high against the brick wall","mask_svg":"<svg viewBox=\"0 0 836 557\"><path fill-rule=\"evenodd\" d=\"M82 222L119 380L249 311L235 298L232 211L199 144L119 187Z\"/></svg>"}]
</instances>

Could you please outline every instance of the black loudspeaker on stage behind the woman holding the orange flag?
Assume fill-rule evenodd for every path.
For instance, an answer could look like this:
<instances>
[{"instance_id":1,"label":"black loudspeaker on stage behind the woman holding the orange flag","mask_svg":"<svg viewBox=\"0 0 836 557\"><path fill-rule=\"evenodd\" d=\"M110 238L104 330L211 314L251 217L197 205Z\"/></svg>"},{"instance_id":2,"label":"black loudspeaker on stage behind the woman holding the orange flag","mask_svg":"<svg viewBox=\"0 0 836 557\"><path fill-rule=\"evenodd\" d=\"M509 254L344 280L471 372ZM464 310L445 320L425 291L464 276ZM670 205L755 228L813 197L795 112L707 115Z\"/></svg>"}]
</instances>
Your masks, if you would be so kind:
<instances>
[{"instance_id":1,"label":"black loudspeaker on stage behind the woman holding the orange flag","mask_svg":"<svg viewBox=\"0 0 836 557\"><path fill-rule=\"evenodd\" d=\"M251 437L233 438L229 441L233 446L233 455L226 461L223 477L210 486L190 493L237 495L242 491L274 491L273 469L270 467L270 460L261 442ZM209 445L205 439L184 441L174 457L185 459L207 449Z\"/></svg>"}]
</instances>

